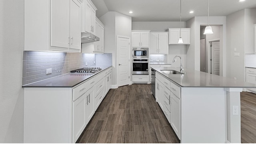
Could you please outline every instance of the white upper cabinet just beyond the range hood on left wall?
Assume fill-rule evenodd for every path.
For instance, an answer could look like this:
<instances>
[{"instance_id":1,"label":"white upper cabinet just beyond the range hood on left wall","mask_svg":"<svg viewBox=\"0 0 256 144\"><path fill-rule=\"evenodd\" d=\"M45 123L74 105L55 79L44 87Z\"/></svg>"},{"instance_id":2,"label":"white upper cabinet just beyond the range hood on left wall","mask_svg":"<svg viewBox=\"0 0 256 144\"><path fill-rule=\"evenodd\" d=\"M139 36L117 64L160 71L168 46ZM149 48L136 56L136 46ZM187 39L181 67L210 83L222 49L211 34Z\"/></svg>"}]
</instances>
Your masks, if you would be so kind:
<instances>
[{"instance_id":1,"label":"white upper cabinet just beyond the range hood on left wall","mask_svg":"<svg viewBox=\"0 0 256 144\"><path fill-rule=\"evenodd\" d=\"M100 38L100 41L89 42L82 44L82 53L94 53L94 54L103 54L104 53L104 25L96 17L94 31L96 36Z\"/></svg>"}]
</instances>

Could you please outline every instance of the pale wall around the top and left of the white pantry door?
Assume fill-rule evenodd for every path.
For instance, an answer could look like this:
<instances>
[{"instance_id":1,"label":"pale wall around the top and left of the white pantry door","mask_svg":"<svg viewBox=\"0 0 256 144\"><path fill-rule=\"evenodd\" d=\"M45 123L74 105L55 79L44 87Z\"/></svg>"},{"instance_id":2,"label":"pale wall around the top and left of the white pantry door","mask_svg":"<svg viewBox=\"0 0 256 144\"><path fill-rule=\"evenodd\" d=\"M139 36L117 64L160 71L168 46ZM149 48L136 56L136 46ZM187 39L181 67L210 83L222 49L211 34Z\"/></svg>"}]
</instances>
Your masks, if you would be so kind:
<instances>
[{"instance_id":1,"label":"pale wall around the top and left of the white pantry door","mask_svg":"<svg viewBox=\"0 0 256 144\"><path fill-rule=\"evenodd\" d=\"M107 12L99 20L105 25L104 52L112 53L112 85L117 86L117 36L131 37L132 18L118 12Z\"/></svg>"}]
</instances>

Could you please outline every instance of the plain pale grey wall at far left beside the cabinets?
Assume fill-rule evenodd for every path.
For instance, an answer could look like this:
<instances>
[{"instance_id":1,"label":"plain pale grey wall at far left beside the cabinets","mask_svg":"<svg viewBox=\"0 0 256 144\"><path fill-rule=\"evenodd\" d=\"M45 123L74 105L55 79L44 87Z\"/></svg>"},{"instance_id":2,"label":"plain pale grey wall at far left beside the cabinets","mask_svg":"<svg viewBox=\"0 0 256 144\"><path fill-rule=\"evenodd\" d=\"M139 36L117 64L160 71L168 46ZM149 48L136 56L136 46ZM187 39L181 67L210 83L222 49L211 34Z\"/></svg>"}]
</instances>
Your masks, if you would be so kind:
<instances>
[{"instance_id":1,"label":"plain pale grey wall at far left beside the cabinets","mask_svg":"<svg viewBox=\"0 0 256 144\"><path fill-rule=\"evenodd\" d=\"M0 41L0 143L22 143L24 0L0 0Z\"/></svg>"}]
</instances>

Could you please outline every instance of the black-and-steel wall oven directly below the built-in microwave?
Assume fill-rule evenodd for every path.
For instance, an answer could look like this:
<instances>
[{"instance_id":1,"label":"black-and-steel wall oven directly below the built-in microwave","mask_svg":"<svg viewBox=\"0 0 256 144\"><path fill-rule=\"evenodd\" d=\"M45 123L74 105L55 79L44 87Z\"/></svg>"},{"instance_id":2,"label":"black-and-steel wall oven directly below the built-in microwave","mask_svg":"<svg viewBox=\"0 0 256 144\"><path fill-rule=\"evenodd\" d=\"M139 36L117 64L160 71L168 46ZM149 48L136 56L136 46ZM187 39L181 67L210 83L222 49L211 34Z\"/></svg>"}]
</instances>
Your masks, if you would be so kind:
<instances>
[{"instance_id":1,"label":"black-and-steel wall oven directly below the built-in microwave","mask_svg":"<svg viewBox=\"0 0 256 144\"><path fill-rule=\"evenodd\" d=\"M132 74L148 74L148 59L132 59Z\"/></svg>"}]
</instances>

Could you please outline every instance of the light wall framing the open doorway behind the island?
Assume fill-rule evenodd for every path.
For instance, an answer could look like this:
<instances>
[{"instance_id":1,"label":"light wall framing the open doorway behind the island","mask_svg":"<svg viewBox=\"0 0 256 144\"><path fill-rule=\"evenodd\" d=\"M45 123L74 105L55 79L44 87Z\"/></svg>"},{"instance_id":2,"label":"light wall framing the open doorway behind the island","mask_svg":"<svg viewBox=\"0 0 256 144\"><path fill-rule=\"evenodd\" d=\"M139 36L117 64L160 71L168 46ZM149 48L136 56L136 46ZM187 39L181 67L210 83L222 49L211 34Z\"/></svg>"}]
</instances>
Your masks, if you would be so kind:
<instances>
[{"instance_id":1,"label":"light wall framing the open doorway behind the island","mask_svg":"<svg viewBox=\"0 0 256 144\"><path fill-rule=\"evenodd\" d=\"M220 75L226 76L226 16L210 16L209 21L210 25L223 25ZM198 71L200 71L200 25L207 25L207 16L196 16L187 21L187 28L191 28L190 45L187 51L187 66Z\"/></svg>"}]
</instances>

